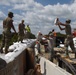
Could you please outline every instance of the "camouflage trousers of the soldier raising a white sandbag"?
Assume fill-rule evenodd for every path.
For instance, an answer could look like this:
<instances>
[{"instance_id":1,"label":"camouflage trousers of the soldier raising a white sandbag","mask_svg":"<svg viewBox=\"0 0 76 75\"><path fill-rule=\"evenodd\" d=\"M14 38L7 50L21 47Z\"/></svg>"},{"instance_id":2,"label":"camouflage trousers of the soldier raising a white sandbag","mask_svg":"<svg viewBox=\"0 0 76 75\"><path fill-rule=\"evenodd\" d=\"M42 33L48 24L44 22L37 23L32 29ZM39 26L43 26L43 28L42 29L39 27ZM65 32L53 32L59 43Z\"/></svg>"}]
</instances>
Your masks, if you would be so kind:
<instances>
[{"instance_id":1,"label":"camouflage trousers of the soldier raising a white sandbag","mask_svg":"<svg viewBox=\"0 0 76 75\"><path fill-rule=\"evenodd\" d=\"M72 49L73 52L75 52L75 47L74 47L74 42L73 42L73 37L71 35L67 35L67 38L65 39L65 51L66 55L68 55L68 46Z\"/></svg>"}]
</instances>

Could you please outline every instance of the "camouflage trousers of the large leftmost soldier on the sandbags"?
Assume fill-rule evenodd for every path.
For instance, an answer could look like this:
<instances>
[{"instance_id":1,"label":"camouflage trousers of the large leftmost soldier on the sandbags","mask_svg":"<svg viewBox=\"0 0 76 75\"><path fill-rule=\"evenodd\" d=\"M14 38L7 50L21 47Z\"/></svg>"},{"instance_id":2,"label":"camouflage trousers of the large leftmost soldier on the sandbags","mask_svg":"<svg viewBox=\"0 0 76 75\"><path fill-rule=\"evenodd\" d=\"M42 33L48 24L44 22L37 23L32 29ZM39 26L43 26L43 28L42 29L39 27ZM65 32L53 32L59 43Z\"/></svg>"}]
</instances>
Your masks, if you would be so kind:
<instances>
[{"instance_id":1,"label":"camouflage trousers of the large leftmost soldier on the sandbags","mask_svg":"<svg viewBox=\"0 0 76 75\"><path fill-rule=\"evenodd\" d=\"M5 47L5 54L8 53L8 48L11 41L11 32L3 32L2 34L2 43L1 43L1 50Z\"/></svg>"}]
</instances>

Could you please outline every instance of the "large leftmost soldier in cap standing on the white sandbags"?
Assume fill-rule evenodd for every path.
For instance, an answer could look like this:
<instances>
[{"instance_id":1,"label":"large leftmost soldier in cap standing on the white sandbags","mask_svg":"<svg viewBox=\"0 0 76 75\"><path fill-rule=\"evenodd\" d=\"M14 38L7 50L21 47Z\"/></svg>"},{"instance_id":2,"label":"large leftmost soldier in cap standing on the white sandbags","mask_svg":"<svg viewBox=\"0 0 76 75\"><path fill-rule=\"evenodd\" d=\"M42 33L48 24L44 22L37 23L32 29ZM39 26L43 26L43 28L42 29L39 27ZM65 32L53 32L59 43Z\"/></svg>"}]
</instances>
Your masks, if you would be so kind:
<instances>
[{"instance_id":1,"label":"large leftmost soldier in cap standing on the white sandbags","mask_svg":"<svg viewBox=\"0 0 76 75\"><path fill-rule=\"evenodd\" d=\"M5 20L3 20L3 38L2 38L2 45L0 49L1 53L3 53L4 46L5 46L5 54L8 53L8 48L11 41L11 28L16 33L12 18L13 18L13 13L9 12L8 17Z\"/></svg>"}]
</instances>

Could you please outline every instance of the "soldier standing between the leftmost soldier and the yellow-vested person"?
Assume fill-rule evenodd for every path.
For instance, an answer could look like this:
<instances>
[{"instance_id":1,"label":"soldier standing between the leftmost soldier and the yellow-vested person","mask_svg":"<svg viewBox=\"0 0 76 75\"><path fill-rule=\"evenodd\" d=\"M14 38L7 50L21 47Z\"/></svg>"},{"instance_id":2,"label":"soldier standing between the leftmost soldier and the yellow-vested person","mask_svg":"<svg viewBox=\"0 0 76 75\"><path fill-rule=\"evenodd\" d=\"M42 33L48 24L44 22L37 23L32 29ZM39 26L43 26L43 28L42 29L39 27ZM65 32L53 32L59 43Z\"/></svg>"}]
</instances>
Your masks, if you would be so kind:
<instances>
[{"instance_id":1,"label":"soldier standing between the leftmost soldier and the yellow-vested person","mask_svg":"<svg viewBox=\"0 0 76 75\"><path fill-rule=\"evenodd\" d=\"M19 32L18 32L18 35L19 35L18 41L21 41L21 43L23 43L22 40L24 39L24 30L25 30L24 20L22 20L21 23L19 24L18 30L19 30Z\"/></svg>"}]
</instances>

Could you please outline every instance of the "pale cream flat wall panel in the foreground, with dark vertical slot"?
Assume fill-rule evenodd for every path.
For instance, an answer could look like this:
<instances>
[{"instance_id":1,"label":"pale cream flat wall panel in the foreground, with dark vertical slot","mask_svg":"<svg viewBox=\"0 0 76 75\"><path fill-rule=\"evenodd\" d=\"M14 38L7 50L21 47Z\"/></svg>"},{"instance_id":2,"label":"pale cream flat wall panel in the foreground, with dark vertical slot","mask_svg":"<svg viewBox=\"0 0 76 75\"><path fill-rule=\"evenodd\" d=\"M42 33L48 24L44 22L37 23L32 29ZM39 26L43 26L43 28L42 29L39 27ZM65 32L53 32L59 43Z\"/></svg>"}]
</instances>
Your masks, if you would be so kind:
<instances>
[{"instance_id":1,"label":"pale cream flat wall panel in the foreground, with dark vertical slot","mask_svg":"<svg viewBox=\"0 0 76 75\"><path fill-rule=\"evenodd\" d=\"M43 75L72 75L44 57L41 57L40 65Z\"/></svg>"}]
</instances>

